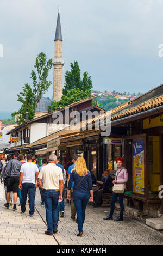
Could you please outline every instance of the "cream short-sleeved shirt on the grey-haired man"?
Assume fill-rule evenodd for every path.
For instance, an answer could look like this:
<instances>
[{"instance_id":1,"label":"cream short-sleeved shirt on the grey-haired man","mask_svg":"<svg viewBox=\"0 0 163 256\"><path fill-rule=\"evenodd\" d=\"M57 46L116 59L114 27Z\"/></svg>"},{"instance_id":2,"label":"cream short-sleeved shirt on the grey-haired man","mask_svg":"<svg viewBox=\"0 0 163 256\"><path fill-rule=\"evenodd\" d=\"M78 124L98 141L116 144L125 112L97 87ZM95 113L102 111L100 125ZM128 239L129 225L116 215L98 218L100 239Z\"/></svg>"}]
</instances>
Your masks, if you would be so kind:
<instances>
[{"instance_id":1,"label":"cream short-sleeved shirt on the grey-haired man","mask_svg":"<svg viewBox=\"0 0 163 256\"><path fill-rule=\"evenodd\" d=\"M38 178L43 179L45 190L59 190L59 180L63 180L63 172L55 163L48 163L42 166Z\"/></svg>"}]
</instances>

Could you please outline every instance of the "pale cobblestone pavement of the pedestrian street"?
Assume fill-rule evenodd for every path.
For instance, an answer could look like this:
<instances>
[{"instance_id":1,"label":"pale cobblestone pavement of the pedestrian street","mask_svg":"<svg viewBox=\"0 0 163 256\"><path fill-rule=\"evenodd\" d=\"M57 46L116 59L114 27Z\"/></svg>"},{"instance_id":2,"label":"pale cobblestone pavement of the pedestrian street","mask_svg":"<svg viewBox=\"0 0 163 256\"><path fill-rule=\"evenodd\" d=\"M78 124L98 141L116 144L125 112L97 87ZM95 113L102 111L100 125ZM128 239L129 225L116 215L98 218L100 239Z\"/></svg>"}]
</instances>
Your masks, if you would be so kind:
<instances>
[{"instance_id":1,"label":"pale cobblestone pavement of the pedestrian street","mask_svg":"<svg viewBox=\"0 0 163 256\"><path fill-rule=\"evenodd\" d=\"M0 245L163 245L163 234L124 215L123 222L104 221L109 208L86 208L83 236L77 237L78 225L70 220L71 208L65 206L65 217L59 218L58 233L44 234L46 227L45 208L40 206L40 192L36 190L35 214L26 214L5 209L4 190L0 185ZM19 200L17 204L19 203ZM114 218L118 216L115 211Z\"/></svg>"}]
</instances>

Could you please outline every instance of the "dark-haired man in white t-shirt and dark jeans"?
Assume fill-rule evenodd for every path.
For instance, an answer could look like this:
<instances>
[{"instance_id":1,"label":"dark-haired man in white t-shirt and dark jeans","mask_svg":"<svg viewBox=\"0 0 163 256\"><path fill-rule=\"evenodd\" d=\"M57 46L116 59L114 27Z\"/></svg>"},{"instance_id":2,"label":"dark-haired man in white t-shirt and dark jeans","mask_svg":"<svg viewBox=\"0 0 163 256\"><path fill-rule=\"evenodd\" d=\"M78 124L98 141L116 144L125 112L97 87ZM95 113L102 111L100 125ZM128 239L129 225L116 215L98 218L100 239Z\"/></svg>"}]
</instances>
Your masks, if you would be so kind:
<instances>
[{"instance_id":1,"label":"dark-haired man in white t-shirt and dark jeans","mask_svg":"<svg viewBox=\"0 0 163 256\"><path fill-rule=\"evenodd\" d=\"M27 194L29 196L29 216L33 216L36 196L36 179L39 175L39 169L36 164L32 163L32 155L27 155L27 163L22 164L19 178L19 188L22 192L21 212L26 211ZM35 178L36 177L36 178Z\"/></svg>"}]
</instances>

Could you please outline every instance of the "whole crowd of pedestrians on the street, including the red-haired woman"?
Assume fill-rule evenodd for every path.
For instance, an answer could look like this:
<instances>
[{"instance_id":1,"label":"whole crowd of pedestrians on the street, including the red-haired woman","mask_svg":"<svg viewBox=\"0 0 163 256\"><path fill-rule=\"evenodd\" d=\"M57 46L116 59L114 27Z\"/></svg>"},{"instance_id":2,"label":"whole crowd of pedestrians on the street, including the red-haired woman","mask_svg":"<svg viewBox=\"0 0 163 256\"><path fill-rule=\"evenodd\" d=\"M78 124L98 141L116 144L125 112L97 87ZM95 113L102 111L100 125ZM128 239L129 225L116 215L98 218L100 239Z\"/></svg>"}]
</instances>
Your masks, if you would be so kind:
<instances>
[{"instance_id":1,"label":"whole crowd of pedestrians on the street, including the red-haired woman","mask_svg":"<svg viewBox=\"0 0 163 256\"><path fill-rule=\"evenodd\" d=\"M60 164L59 157L54 154L50 155L49 159L43 158L40 167L37 164L37 158L32 154L28 154L26 159L17 152L14 153L13 159L11 155L7 155L3 165L0 161L1 183L4 184L6 195L4 207L9 208L13 200L13 210L16 211L18 197L21 213L24 214L28 198L29 216L33 217L36 188L39 188L41 206L45 206L46 209L47 230L45 234L53 235L58 232L59 217L65 216L64 194L67 189L67 200L71 201L70 218L78 223L79 233L77 236L81 237L88 202L92 202L94 207L101 206L103 193L112 193L114 184L124 184L124 191L112 193L110 214L104 218L104 220L112 220L115 201L119 197L121 212L115 221L122 221L123 197L126 190L125 184L128 180L127 170L123 167L123 159L118 157L116 160L118 168L115 180L111 178L109 170L105 170L104 182L94 194L95 198L93 197L92 184L95 184L96 178L87 169L84 158L73 154L71 160L73 164L68 162L66 173Z\"/></svg>"}]
</instances>

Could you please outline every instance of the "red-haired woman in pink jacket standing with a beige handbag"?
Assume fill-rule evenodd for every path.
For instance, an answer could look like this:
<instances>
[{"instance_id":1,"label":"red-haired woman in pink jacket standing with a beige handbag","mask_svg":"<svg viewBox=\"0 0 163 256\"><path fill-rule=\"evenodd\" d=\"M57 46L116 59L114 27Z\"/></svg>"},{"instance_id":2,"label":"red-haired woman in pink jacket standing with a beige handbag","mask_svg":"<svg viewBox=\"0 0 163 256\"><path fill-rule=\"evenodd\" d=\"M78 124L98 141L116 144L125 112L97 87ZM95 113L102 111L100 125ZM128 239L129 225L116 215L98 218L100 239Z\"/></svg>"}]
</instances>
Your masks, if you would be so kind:
<instances>
[{"instance_id":1,"label":"red-haired woman in pink jacket standing with a beige handbag","mask_svg":"<svg viewBox=\"0 0 163 256\"><path fill-rule=\"evenodd\" d=\"M113 184L124 184L124 192L126 190L126 182L128 181L128 172L127 169L123 167L123 158L122 157L117 157L116 163L117 163L117 170L116 170L116 176L115 180L112 181ZM115 202L117 200L117 197L119 198L119 203L120 203L120 216L116 218L114 221L123 221L123 211L124 211L124 204L123 204L123 198L124 198L124 193L113 193L112 198L111 198L111 209L110 209L110 214L104 220L112 220L112 215L114 213L114 208L115 208Z\"/></svg>"}]
</instances>

